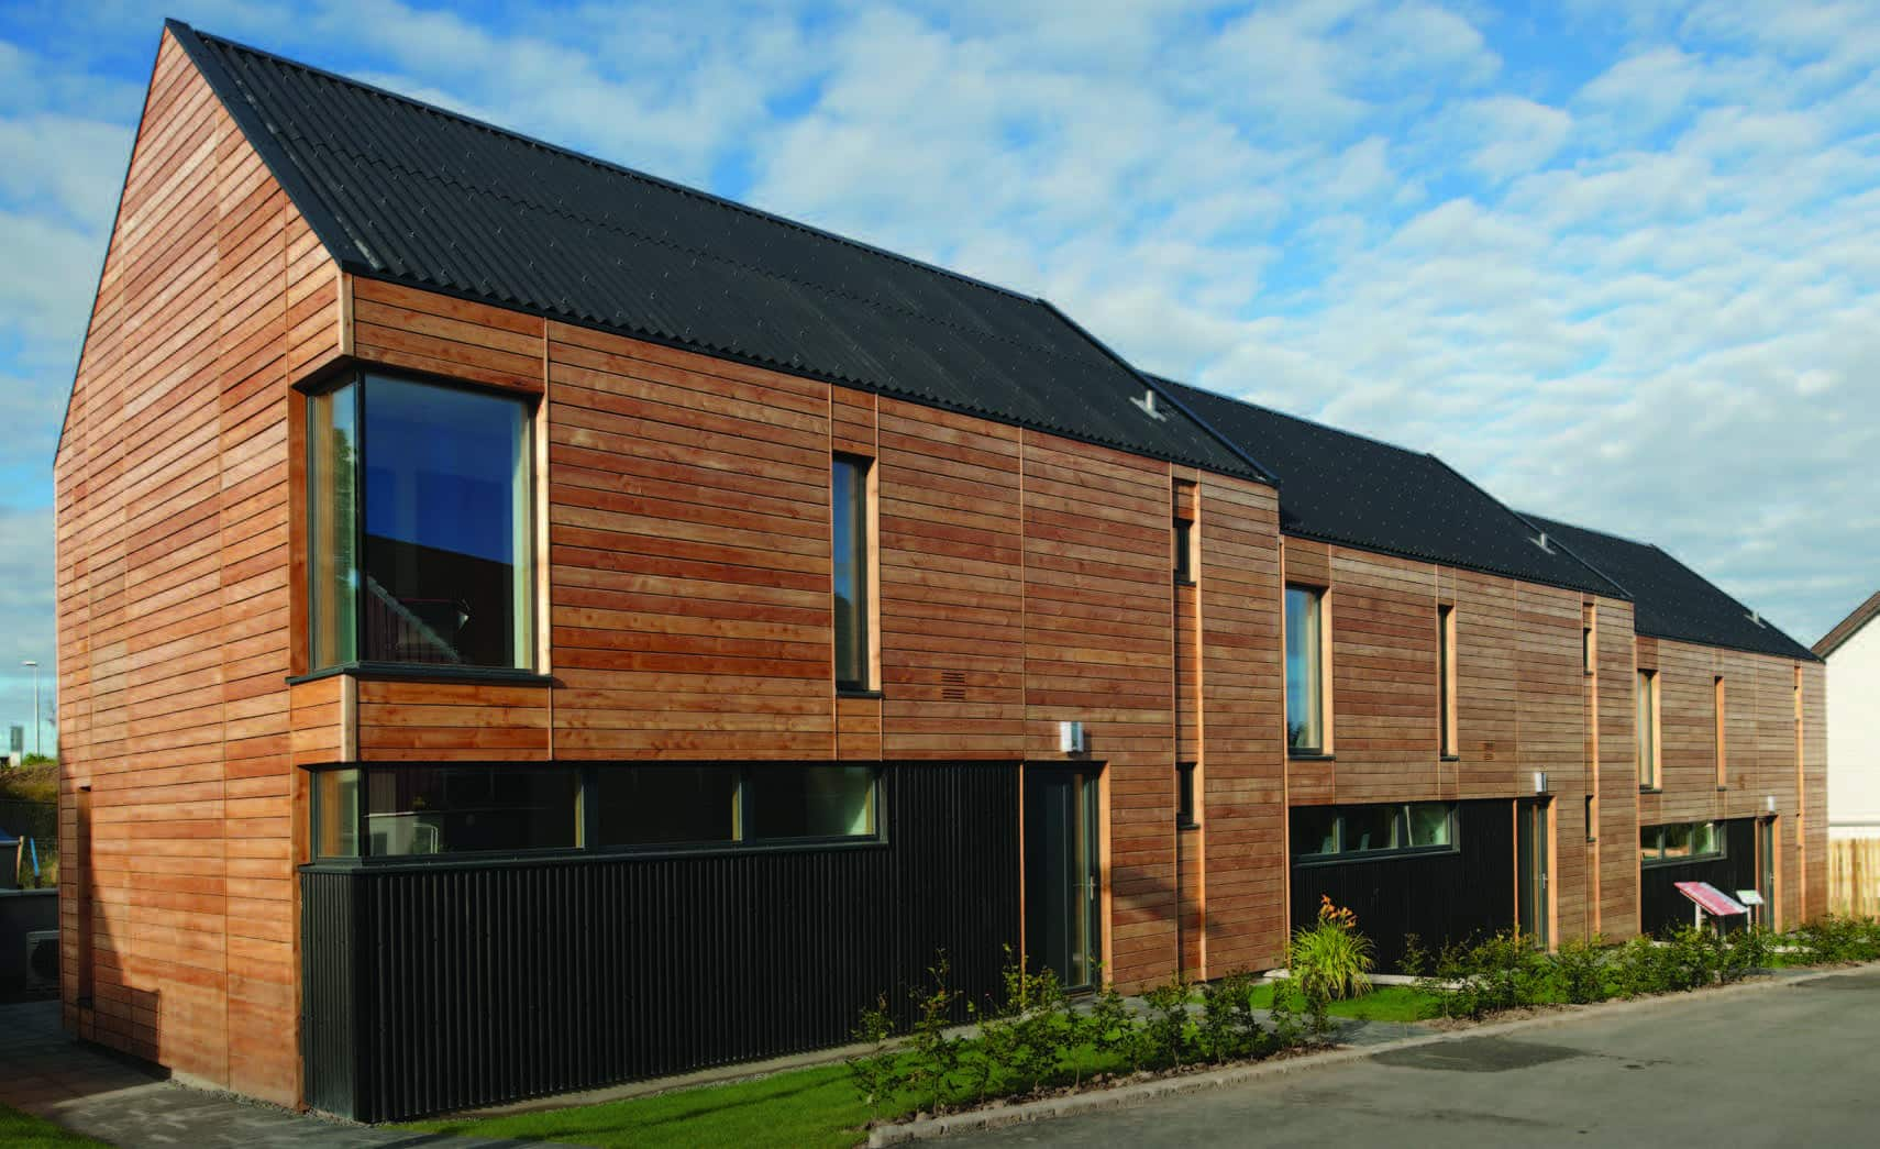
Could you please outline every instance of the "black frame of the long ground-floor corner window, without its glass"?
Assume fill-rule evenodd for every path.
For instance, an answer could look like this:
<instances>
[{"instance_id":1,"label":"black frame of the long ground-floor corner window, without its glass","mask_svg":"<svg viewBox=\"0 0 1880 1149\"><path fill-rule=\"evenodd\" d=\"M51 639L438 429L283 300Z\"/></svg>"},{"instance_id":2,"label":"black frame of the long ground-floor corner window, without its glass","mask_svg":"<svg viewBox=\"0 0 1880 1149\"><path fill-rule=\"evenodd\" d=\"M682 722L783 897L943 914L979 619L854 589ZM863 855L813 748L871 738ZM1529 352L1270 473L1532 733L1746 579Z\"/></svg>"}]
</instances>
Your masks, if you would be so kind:
<instances>
[{"instance_id":1,"label":"black frame of the long ground-floor corner window, without its glass","mask_svg":"<svg viewBox=\"0 0 1880 1149\"><path fill-rule=\"evenodd\" d=\"M579 835L573 846L541 846L541 848L515 848L515 850L451 850L442 854L372 854L370 839L370 777L372 771L399 771L399 769L425 769L425 767L508 767L508 769L573 769L575 773L575 814L579 824ZM823 837L773 837L773 839L737 839L737 841L713 841L713 842L654 842L654 844L624 844L624 846L602 846L598 844L598 822L600 809L590 797L596 794L594 779L600 771L607 769L694 769L694 767L735 767L739 771L761 771L776 767L823 767L823 769L852 769L867 767L872 771L870 777L870 803L872 803L872 822L874 831L865 835L823 835ZM517 762L340 762L329 765L306 767L310 775L316 775L310 794L310 842L312 842L312 865L321 869L357 869L357 867L451 867L451 865L489 865L489 863L508 863L508 861L570 861L570 859L598 859L598 858L690 858L705 854L778 854L778 852L801 852L801 850L865 850L865 848L884 848L889 844L887 837L887 809L889 794L887 786L891 771L885 763L878 762L588 762L588 763L517 763ZM357 854L352 856L329 856L320 854L320 842L323 839L323 820L327 812L320 801L320 779L318 775L331 771L357 771L357 794L355 805L355 826L353 841L357 842ZM743 788L741 788L743 790ZM739 794L739 803L743 803L743 794ZM739 812L739 822L743 822L743 812Z\"/></svg>"}]
</instances>

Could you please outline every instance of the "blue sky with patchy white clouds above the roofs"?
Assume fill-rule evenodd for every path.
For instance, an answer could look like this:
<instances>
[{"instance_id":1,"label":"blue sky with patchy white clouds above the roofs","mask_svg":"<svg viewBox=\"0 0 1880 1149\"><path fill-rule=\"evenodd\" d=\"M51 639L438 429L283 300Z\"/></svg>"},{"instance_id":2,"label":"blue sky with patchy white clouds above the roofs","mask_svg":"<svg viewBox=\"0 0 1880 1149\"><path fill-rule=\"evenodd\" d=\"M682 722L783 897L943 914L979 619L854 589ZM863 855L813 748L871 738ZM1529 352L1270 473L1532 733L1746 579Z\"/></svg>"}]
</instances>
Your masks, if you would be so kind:
<instances>
[{"instance_id":1,"label":"blue sky with patchy white clouds above the roofs","mask_svg":"<svg viewBox=\"0 0 1880 1149\"><path fill-rule=\"evenodd\" d=\"M1805 643L1880 587L1874 0L0 0L0 726L164 15L1043 295Z\"/></svg>"}]
</instances>

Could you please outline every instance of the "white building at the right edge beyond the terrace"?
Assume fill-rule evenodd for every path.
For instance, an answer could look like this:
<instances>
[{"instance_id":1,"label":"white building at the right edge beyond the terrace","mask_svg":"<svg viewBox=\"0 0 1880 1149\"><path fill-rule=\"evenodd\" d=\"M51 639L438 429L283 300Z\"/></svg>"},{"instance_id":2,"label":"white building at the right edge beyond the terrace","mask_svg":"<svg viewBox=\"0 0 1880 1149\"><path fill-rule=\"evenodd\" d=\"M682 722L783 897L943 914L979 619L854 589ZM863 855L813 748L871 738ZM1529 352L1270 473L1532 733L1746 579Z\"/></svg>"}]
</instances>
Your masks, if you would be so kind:
<instances>
[{"instance_id":1,"label":"white building at the right edge beyond the terrace","mask_svg":"<svg viewBox=\"0 0 1880 1149\"><path fill-rule=\"evenodd\" d=\"M1880 592L1814 643L1827 660L1827 837L1880 837Z\"/></svg>"}]
</instances>

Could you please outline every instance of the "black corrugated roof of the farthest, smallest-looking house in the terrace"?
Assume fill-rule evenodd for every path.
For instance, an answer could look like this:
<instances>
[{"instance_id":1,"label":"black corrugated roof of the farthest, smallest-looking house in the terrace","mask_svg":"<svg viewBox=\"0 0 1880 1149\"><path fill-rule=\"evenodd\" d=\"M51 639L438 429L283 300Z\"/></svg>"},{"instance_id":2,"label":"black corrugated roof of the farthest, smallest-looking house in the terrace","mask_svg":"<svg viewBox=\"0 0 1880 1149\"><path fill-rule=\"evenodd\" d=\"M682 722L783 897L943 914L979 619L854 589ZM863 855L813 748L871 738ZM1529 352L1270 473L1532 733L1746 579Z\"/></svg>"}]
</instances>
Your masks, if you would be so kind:
<instances>
[{"instance_id":1,"label":"black corrugated roof of the farthest, smallest-looking house in the terrace","mask_svg":"<svg viewBox=\"0 0 1880 1149\"><path fill-rule=\"evenodd\" d=\"M1575 555L1632 592L1632 624L1639 634L1814 660L1809 647L1777 630L1767 619L1758 622L1750 617L1750 607L1653 543L1559 519L1527 517L1549 536L1562 538Z\"/></svg>"}]
</instances>

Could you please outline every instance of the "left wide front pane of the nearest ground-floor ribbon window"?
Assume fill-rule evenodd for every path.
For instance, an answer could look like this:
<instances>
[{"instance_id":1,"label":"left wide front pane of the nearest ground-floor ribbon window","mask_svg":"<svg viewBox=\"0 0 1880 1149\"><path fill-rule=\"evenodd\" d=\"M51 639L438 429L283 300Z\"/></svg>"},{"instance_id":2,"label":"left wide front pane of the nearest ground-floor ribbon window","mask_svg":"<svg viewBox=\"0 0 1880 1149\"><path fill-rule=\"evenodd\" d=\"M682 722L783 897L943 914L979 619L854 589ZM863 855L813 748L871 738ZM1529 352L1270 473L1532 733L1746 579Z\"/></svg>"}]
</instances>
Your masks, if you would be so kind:
<instances>
[{"instance_id":1,"label":"left wide front pane of the nearest ground-floor ribbon window","mask_svg":"<svg viewBox=\"0 0 1880 1149\"><path fill-rule=\"evenodd\" d=\"M367 771L367 852L568 850L581 841L579 773L560 765L410 765Z\"/></svg>"}]
</instances>

